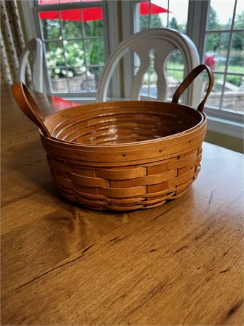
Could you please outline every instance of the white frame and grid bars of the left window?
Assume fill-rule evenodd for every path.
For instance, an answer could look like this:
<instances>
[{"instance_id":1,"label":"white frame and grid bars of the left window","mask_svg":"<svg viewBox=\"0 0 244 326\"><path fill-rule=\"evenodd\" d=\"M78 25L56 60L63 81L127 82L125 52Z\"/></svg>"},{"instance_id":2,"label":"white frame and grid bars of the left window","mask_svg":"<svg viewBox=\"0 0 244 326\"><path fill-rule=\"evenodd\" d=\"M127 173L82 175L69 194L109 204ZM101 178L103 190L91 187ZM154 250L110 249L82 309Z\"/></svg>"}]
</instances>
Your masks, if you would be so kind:
<instances>
[{"instance_id":1,"label":"white frame and grid bars of the left window","mask_svg":"<svg viewBox=\"0 0 244 326\"><path fill-rule=\"evenodd\" d=\"M59 0L60 1L60 0ZM86 53L86 40L103 40L104 41L104 50L105 50L105 54L104 54L104 58L105 61L108 58L108 48L109 48L109 41L108 38L105 37L105 35L108 35L108 14L107 14L107 1L91 1L91 2L74 2L74 3L59 3L59 4L38 4L38 1L35 0L34 1L34 13L35 13L35 22L37 23L37 34L38 37L41 38L42 42L44 44L46 43L51 43L51 42L56 42L61 44L62 43L62 49L63 52L65 53L65 47L64 47L64 40L69 41L80 41L83 47L83 52ZM101 8L103 10L103 35L100 36L86 36L85 32L84 32L84 23L83 20L81 19L81 38L68 38L66 39L64 36L64 29L63 29L63 21L60 17L60 12L63 10L69 10L69 9L86 9L86 8ZM42 31L42 23L41 20L39 18L39 13L43 12L43 11L58 11L59 12L59 24L60 24L60 32L62 35L62 40L59 39L50 39L47 40L44 38L43 35L43 31ZM82 14L81 14L82 15ZM81 16L82 17L82 16ZM48 85L48 91L50 94L52 95L57 95L57 96L65 96L65 97L78 97L78 96L95 96L96 91L71 91L71 84L70 84L70 79L69 77L67 77L67 86L68 86L68 92L55 92L52 91L52 84L50 81L50 77L48 75L48 72L50 70L52 70L52 68L48 67L48 63L47 63L47 59L46 59L46 50L45 50L45 46L44 46L44 63L45 63L45 80L47 81L47 85ZM67 64L66 61L66 57L64 55L64 66L59 66L60 69L66 69L66 72L68 72L68 69L71 68L77 68L74 66L70 66ZM88 68L100 68L103 69L104 64L88 64L87 59L86 59L86 55L84 55L84 67L86 67L86 72Z\"/></svg>"}]
</instances>

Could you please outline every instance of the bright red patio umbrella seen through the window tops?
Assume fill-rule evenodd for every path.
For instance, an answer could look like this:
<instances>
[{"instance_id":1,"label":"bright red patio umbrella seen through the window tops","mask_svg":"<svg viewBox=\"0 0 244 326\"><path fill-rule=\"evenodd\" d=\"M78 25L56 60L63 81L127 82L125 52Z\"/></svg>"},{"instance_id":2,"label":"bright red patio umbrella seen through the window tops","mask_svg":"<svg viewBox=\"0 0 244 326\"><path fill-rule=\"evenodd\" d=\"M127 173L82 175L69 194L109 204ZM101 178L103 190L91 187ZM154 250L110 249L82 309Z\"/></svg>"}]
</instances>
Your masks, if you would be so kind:
<instances>
[{"instance_id":1,"label":"bright red patio umbrella seen through the window tops","mask_svg":"<svg viewBox=\"0 0 244 326\"><path fill-rule=\"evenodd\" d=\"M64 2L65 0L63 0ZM83 0L84 1L84 0ZM86 0L89 1L89 0ZM99 1L99 0L98 0ZM57 0L39 0L39 4L53 4L57 3ZM149 1L143 1L139 4L140 15L148 15L150 12ZM168 10L164 9L156 4L151 4L151 14L167 13ZM103 9L100 7L86 8L86 9L69 9L60 11L60 18L63 21L98 21L103 19ZM59 11L42 11L39 13L40 19L59 19Z\"/></svg>"}]
</instances>

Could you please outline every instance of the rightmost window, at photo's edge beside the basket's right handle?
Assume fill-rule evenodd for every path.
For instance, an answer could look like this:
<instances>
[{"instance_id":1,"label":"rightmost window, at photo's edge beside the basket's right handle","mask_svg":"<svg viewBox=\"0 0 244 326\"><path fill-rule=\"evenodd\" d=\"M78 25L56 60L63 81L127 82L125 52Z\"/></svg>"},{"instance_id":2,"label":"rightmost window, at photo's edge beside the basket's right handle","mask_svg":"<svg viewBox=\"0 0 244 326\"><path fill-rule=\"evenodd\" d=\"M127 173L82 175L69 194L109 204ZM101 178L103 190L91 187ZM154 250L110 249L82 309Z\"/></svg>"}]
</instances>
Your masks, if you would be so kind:
<instances>
[{"instance_id":1,"label":"rightmost window, at photo's edge beside the basket's right handle","mask_svg":"<svg viewBox=\"0 0 244 326\"><path fill-rule=\"evenodd\" d=\"M224 7L224 8L223 8ZM211 0L205 30L204 60L214 71L207 105L244 113L243 1Z\"/></svg>"}]
</instances>

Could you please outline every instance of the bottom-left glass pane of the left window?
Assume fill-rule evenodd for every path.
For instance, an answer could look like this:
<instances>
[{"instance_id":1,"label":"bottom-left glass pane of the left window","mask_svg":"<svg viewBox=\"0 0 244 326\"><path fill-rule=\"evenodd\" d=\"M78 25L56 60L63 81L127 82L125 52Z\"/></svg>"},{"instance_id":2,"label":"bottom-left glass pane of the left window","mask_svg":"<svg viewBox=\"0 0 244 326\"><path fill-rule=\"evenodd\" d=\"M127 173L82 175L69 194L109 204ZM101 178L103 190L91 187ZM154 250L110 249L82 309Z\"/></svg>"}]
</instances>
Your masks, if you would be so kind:
<instances>
[{"instance_id":1,"label":"bottom-left glass pane of the left window","mask_svg":"<svg viewBox=\"0 0 244 326\"><path fill-rule=\"evenodd\" d=\"M48 70L48 75L51 81L52 92L66 93L69 91L65 69L50 69Z\"/></svg>"}]
</instances>

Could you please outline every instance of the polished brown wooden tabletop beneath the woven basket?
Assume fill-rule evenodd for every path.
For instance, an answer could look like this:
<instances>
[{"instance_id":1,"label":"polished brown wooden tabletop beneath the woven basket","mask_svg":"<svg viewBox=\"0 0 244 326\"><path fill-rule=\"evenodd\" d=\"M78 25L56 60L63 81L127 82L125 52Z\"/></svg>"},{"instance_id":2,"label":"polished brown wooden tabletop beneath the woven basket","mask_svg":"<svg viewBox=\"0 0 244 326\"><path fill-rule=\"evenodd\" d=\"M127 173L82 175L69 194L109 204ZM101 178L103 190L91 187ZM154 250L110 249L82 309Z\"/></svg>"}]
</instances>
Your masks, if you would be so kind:
<instances>
[{"instance_id":1,"label":"polished brown wooden tabletop beneath the woven basket","mask_svg":"<svg viewBox=\"0 0 244 326\"><path fill-rule=\"evenodd\" d=\"M182 198L88 210L59 195L37 128L1 91L1 325L243 325L242 154L204 143Z\"/></svg>"}]
</instances>

